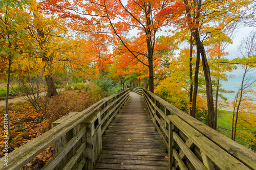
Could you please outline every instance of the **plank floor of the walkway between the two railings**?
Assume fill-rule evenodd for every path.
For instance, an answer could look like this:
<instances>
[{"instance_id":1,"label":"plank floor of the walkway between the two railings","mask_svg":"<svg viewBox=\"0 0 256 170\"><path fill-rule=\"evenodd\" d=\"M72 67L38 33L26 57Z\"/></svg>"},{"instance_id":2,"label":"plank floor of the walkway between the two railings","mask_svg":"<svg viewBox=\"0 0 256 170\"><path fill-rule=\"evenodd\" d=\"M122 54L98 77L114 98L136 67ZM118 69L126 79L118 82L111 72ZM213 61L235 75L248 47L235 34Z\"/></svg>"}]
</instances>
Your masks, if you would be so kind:
<instances>
[{"instance_id":1,"label":"plank floor of the walkway between the two railings","mask_svg":"<svg viewBox=\"0 0 256 170\"><path fill-rule=\"evenodd\" d=\"M95 169L168 169L164 144L140 95L130 92L105 131Z\"/></svg>"}]
</instances>

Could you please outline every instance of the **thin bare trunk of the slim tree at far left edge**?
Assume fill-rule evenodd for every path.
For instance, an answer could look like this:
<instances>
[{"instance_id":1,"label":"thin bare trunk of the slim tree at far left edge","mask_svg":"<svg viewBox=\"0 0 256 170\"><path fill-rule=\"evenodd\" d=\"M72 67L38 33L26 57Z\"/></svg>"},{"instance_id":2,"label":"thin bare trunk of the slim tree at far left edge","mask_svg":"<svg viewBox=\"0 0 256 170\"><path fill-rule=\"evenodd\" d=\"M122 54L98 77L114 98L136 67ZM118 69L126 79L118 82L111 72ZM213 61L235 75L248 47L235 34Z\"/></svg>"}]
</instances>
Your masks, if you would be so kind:
<instances>
[{"instance_id":1,"label":"thin bare trunk of the slim tree at far left edge","mask_svg":"<svg viewBox=\"0 0 256 170\"><path fill-rule=\"evenodd\" d=\"M11 65L12 65L12 63L11 63L11 56L9 56L7 90L6 90L6 99L5 99L7 127L8 127L8 133L9 133L9 141L12 140L12 131L11 131L11 128L10 128L10 118L9 118L9 111L8 111L8 98L9 98L9 89L10 89Z\"/></svg>"}]
</instances>

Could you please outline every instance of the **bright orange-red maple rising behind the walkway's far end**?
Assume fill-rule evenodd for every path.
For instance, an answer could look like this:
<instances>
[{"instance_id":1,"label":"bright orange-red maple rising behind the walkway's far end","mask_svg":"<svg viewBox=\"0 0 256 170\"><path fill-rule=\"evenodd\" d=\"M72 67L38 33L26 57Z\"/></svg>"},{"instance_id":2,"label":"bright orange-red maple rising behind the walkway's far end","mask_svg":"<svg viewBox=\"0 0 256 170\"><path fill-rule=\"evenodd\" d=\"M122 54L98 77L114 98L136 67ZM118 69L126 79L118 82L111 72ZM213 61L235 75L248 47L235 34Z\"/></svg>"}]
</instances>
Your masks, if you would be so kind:
<instances>
[{"instance_id":1,"label":"bright orange-red maple rising behind the walkway's far end","mask_svg":"<svg viewBox=\"0 0 256 170\"><path fill-rule=\"evenodd\" d=\"M84 32L111 33L110 41L117 46L122 43L125 50L139 62L148 67L149 89L154 92L154 53L156 34L170 23L163 22L157 18L158 13L166 8L179 9L179 4L170 1L128 1L125 5L119 1L87 1L76 2L55 2L45 1L42 9L51 7L52 11L58 12L60 16L72 18L72 28ZM78 11L79 8L79 11ZM46 8L45 8L46 9ZM72 11L72 12L71 12ZM180 15L173 13L173 17ZM87 17L89 16L89 17ZM127 40L122 33L137 30L136 45ZM134 44L134 43L133 43ZM124 50L124 49L122 49ZM141 61L140 57L147 59Z\"/></svg>"}]
</instances>

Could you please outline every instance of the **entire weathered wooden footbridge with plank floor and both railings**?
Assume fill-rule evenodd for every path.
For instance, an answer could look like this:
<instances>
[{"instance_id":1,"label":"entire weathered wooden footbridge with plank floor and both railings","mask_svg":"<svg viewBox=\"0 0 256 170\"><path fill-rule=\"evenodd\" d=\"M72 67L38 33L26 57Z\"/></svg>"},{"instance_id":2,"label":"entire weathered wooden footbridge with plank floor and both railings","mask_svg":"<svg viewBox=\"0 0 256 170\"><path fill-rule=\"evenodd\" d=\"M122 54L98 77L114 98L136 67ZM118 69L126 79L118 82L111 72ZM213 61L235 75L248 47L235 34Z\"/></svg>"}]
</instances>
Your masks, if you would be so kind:
<instances>
[{"instance_id":1,"label":"entire weathered wooden footbridge with plank floor and both railings","mask_svg":"<svg viewBox=\"0 0 256 170\"><path fill-rule=\"evenodd\" d=\"M255 153L138 87L58 119L0 169L21 169L50 145L42 169L256 169Z\"/></svg>"}]
</instances>

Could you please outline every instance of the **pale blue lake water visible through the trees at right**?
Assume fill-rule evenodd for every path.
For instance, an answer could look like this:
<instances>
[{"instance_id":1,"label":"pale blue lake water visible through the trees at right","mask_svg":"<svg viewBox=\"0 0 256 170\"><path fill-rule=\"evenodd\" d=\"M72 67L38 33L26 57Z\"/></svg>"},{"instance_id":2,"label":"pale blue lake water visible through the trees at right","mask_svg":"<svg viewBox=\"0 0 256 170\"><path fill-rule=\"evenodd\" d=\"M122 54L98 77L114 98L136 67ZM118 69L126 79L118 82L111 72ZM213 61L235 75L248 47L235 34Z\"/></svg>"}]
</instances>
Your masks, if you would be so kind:
<instances>
[{"instance_id":1,"label":"pale blue lake water visible through the trees at right","mask_svg":"<svg viewBox=\"0 0 256 170\"><path fill-rule=\"evenodd\" d=\"M256 78L256 77L252 77ZM224 88L225 90L232 90L234 93L222 93L223 96L225 96L228 100L233 101L234 97L236 96L236 93L238 91L238 88L241 86L242 83L242 76L236 76L229 78L228 81L222 81L221 82L221 88ZM253 86L252 86L253 87ZM254 90L256 90L256 87L254 85Z\"/></svg>"}]
</instances>

